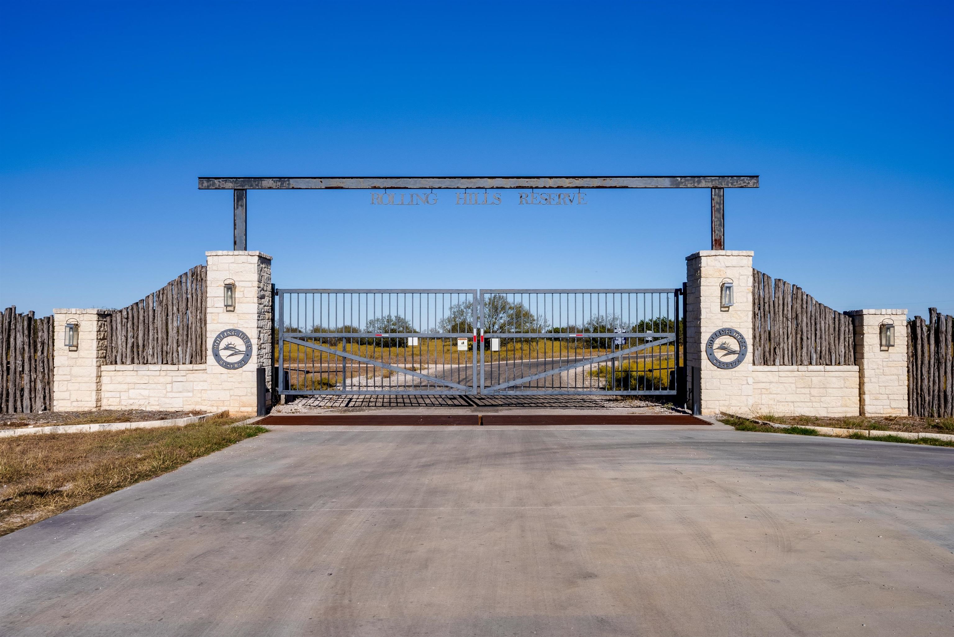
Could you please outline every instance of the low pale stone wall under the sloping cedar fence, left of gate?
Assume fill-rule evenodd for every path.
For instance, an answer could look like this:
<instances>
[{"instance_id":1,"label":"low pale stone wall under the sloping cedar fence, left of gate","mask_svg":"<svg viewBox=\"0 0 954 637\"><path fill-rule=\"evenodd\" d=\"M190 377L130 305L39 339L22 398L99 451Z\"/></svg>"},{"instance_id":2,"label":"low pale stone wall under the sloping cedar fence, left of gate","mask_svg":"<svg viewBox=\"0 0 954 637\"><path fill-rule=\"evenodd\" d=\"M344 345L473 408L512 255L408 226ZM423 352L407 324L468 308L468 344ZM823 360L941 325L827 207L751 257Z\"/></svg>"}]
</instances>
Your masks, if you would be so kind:
<instances>
[{"instance_id":1,"label":"low pale stone wall under the sloping cedar fence, left of gate","mask_svg":"<svg viewBox=\"0 0 954 637\"><path fill-rule=\"evenodd\" d=\"M205 365L103 365L103 409L207 409Z\"/></svg>"}]
</instances>

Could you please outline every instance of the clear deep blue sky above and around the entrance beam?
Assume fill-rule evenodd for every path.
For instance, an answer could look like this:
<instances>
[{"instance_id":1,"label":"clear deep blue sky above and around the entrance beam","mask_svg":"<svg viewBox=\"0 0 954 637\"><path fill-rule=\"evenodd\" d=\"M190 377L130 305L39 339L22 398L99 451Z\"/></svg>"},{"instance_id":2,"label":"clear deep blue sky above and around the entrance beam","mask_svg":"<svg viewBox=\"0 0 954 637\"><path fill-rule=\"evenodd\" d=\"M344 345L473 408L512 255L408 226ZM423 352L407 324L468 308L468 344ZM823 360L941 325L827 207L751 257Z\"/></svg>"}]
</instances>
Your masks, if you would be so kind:
<instances>
[{"instance_id":1,"label":"clear deep blue sky above and around the entrance beam","mask_svg":"<svg viewBox=\"0 0 954 637\"><path fill-rule=\"evenodd\" d=\"M231 249L199 175L761 175L727 248L954 313L951 7L5 1L0 306L121 307ZM249 247L280 287L467 288L676 286L709 247L706 190L368 201L251 192Z\"/></svg>"}]
</instances>

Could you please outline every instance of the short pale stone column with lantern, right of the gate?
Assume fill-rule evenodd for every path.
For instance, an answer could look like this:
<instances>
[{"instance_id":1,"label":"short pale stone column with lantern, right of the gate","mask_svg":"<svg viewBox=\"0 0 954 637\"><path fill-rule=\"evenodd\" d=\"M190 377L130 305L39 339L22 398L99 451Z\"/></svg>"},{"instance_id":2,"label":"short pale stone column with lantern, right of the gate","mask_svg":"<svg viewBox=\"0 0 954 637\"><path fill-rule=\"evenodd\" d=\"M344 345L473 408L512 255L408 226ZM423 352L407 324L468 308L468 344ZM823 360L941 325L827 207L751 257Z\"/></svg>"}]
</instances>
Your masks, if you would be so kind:
<instances>
[{"instance_id":1,"label":"short pale stone column with lantern, right of the gate","mask_svg":"<svg viewBox=\"0 0 954 637\"><path fill-rule=\"evenodd\" d=\"M862 416L907 416L907 310L852 310ZM881 347L881 323L895 326L893 347Z\"/></svg>"}]
</instances>

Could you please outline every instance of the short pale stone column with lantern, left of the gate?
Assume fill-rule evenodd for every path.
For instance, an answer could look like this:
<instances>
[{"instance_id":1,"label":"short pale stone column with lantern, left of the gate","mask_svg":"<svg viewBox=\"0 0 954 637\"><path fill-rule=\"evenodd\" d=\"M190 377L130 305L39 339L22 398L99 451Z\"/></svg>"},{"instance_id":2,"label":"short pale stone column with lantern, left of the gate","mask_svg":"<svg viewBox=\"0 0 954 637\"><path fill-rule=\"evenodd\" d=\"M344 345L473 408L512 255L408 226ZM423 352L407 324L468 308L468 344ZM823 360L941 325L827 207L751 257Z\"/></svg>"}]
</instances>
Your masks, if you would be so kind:
<instances>
[{"instance_id":1,"label":"short pale stone column with lantern, left of the gate","mask_svg":"<svg viewBox=\"0 0 954 637\"><path fill-rule=\"evenodd\" d=\"M109 310L53 310L53 411L93 411L102 406L101 367L106 360ZM77 347L66 346L67 323L79 325Z\"/></svg>"}]
</instances>

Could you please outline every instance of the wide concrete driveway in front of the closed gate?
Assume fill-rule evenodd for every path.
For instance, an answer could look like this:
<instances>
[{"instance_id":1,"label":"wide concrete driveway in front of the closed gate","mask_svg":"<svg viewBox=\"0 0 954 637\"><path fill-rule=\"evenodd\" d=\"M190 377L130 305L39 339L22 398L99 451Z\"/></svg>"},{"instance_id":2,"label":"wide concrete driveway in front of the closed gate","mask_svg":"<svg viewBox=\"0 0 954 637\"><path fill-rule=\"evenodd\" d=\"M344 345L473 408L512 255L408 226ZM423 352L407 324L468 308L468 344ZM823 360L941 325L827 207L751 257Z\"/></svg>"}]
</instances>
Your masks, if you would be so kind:
<instances>
[{"instance_id":1,"label":"wide concrete driveway in front of the closed gate","mask_svg":"<svg viewBox=\"0 0 954 637\"><path fill-rule=\"evenodd\" d=\"M4 635L950 635L954 449L276 427L0 538Z\"/></svg>"}]
</instances>

